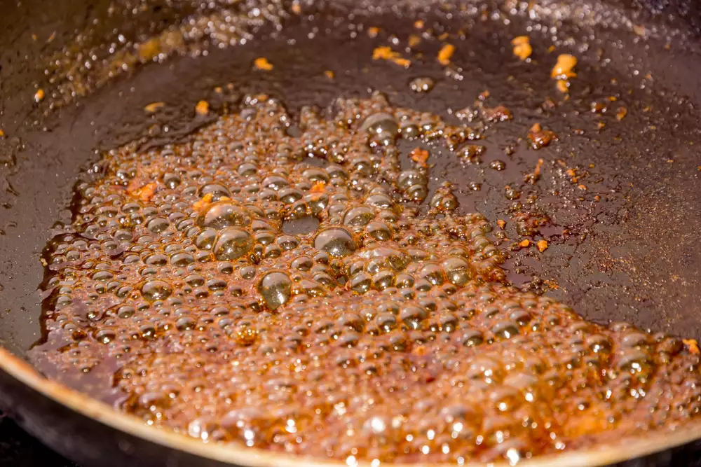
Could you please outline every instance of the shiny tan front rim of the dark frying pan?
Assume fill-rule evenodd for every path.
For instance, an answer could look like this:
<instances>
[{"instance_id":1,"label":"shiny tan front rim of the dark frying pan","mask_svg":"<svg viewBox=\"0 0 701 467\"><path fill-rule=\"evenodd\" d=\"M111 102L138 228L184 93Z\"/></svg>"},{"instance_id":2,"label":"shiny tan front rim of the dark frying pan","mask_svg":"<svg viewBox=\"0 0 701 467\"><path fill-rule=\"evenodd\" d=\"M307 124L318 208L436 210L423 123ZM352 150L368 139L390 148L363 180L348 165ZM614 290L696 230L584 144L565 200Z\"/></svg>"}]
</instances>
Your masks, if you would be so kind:
<instances>
[{"instance_id":1,"label":"shiny tan front rim of the dark frying pan","mask_svg":"<svg viewBox=\"0 0 701 467\"><path fill-rule=\"evenodd\" d=\"M70 389L58 382L52 381L41 375L27 361L15 356L5 347L0 346L0 370L22 384L41 393L84 417L93 419L103 425L114 428L116 431L132 435L140 440L153 442L156 445L175 449L203 459L249 467L341 467L349 464L344 461L328 461L325 459L311 458L293 454L280 454L266 451L265 449L242 447L238 445L205 444L199 440L188 438L186 435L169 431L165 428L148 426L132 415L117 412L113 407L100 400L90 398L74 389ZM526 459L519 462L524 467L597 467L612 463L636 459L641 456L662 452L693 442L701 438L701 422L695 421L679 428L676 431L655 435L654 432L641 438L628 441L626 439L609 445L602 445L594 449L578 449L562 454L545 454L534 459ZM448 467L454 463L388 463L393 467ZM464 463L463 467L484 466L486 463ZM512 464L507 461L489 463L491 467L506 467ZM358 467L373 467L369 462L353 463Z\"/></svg>"}]
</instances>

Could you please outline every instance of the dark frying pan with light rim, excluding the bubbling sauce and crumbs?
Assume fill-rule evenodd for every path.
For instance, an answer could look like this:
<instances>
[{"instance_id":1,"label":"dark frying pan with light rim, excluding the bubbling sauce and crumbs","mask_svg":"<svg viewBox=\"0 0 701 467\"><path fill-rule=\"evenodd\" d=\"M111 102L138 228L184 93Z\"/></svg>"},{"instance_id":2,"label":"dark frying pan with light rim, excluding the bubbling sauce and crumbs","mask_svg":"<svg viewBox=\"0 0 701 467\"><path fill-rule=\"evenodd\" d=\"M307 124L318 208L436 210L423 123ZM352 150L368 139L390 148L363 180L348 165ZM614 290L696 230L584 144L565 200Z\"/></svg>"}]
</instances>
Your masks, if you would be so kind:
<instances>
[{"instance_id":1,"label":"dark frying pan with light rim, excluding the bubbling sauce and crumbs","mask_svg":"<svg viewBox=\"0 0 701 467\"><path fill-rule=\"evenodd\" d=\"M693 1L458 2L456 8L418 0L302 2L303 14L288 15L280 28L257 19L260 7L271 3L233 2L229 8L254 18L247 43L220 48L213 34L204 34L188 53L132 64L109 79L93 69L67 72L54 65L67 51L76 60L76 50L89 51L81 60L94 54L99 63L110 47L144 43L212 4L10 3L0 12L0 128L6 134L0 139L0 405L70 459L85 466L345 465L205 445L149 428L46 379L27 361L28 349L41 339L39 259L56 223L71 221L76 180L99 173L101 150L144 135L150 135L144 144L186 138L206 123L193 124L195 102L225 83L234 84L232 95L215 102L214 111L226 111L247 92L279 96L294 113L302 105L326 106L339 94L376 89L395 105L449 118L489 90L515 115L510 129L489 143L488 153L508 159L508 169L465 167L447 156L434 169L461 187L463 211L480 211L491 221L508 216L512 205L503 186L533 165L519 135L535 122L561 135L538 153L545 175L533 188L550 219L541 233L551 246L541 256L513 251L505 265L510 279L592 321L701 336L701 10ZM419 60L410 71L371 60L378 39L365 34L367 27L406 37L416 15L437 34L460 38L453 59L460 68L450 76L435 60ZM509 39L517 34L531 35L536 66L513 60ZM554 60L545 52L551 44L580 58L570 99L554 106L543 99L557 97L542 78ZM435 54L431 47L427 56ZM255 74L250 64L259 56L280 66ZM327 69L336 71L334 82L325 78ZM416 76L435 78L435 89L411 93L407 83ZM36 103L39 88L46 88L46 98ZM614 102L611 96L617 104L608 114L592 113L592 103ZM158 101L167 104L165 111L144 118L143 107ZM615 118L621 108L625 118ZM508 146L512 151L504 155ZM586 190L566 183L563 163L586 174ZM482 183L482 190L468 189L469 181ZM701 426L690 424L524 464L672 466L682 455L701 457L700 438Z\"/></svg>"}]
</instances>

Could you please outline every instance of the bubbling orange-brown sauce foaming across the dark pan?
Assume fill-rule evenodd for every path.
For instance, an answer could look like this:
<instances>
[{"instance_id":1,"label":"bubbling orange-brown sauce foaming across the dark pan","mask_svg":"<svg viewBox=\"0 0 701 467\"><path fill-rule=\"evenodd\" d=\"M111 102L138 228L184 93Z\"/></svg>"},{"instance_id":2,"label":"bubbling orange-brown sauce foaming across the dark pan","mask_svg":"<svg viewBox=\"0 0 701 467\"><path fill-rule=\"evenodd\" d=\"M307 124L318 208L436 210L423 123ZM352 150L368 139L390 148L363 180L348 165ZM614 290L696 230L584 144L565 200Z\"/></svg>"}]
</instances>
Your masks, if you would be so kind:
<instances>
[{"instance_id":1,"label":"bubbling orange-brown sauce foaming across the dark pan","mask_svg":"<svg viewBox=\"0 0 701 467\"><path fill-rule=\"evenodd\" d=\"M341 460L514 461L697 417L681 340L509 286L484 216L429 193L426 153L402 169L400 141L479 134L380 94L333 113L250 97L109 153L49 246L34 358L150 425Z\"/></svg>"}]
</instances>

